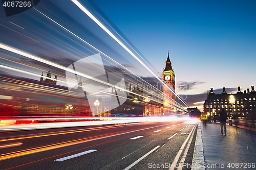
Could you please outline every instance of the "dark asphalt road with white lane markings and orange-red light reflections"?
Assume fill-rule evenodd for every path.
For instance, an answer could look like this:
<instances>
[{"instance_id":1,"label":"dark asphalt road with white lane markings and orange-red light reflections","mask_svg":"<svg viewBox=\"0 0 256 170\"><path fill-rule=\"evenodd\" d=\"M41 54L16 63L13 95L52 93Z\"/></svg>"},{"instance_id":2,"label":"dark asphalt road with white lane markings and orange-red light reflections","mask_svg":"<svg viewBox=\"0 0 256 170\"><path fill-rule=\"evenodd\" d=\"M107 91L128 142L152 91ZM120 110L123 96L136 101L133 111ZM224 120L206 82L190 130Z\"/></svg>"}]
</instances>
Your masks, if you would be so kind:
<instances>
[{"instance_id":1,"label":"dark asphalt road with white lane markings and orange-red light reflections","mask_svg":"<svg viewBox=\"0 0 256 170\"><path fill-rule=\"evenodd\" d=\"M192 164L196 130L176 120L5 132L0 169L181 169Z\"/></svg>"}]
</instances>

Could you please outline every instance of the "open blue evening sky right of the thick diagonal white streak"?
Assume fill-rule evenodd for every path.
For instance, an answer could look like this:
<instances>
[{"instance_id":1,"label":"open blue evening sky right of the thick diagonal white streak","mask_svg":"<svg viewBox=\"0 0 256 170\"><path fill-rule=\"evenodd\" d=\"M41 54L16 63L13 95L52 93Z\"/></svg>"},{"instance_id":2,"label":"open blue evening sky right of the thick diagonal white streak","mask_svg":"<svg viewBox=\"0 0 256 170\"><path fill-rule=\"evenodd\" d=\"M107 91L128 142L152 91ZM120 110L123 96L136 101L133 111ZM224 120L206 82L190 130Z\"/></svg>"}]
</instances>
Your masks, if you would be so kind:
<instances>
[{"instance_id":1,"label":"open blue evening sky right of the thick diagonal white streak","mask_svg":"<svg viewBox=\"0 0 256 170\"><path fill-rule=\"evenodd\" d=\"M160 74L169 50L178 93L256 86L256 1L94 2Z\"/></svg>"}]
</instances>

